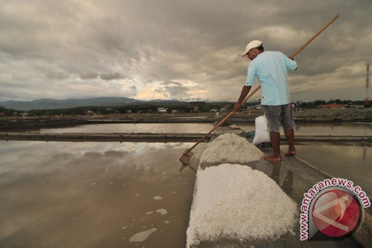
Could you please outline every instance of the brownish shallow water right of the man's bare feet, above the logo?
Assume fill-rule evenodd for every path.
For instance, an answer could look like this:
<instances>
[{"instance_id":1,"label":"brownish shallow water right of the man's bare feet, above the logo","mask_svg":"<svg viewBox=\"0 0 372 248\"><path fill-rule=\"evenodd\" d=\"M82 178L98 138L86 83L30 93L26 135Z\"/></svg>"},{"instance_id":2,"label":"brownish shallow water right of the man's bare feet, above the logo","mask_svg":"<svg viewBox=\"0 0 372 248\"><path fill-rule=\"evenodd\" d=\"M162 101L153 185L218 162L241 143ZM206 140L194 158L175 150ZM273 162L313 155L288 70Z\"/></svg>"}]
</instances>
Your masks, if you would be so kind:
<instances>
[{"instance_id":1,"label":"brownish shallow water right of the man's bare feet, above the logo","mask_svg":"<svg viewBox=\"0 0 372 248\"><path fill-rule=\"evenodd\" d=\"M288 145L280 146L288 151ZM364 191L372 193L372 147L334 145L325 142L301 142L297 157L309 162L333 177L352 180Z\"/></svg>"}]
</instances>

